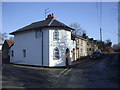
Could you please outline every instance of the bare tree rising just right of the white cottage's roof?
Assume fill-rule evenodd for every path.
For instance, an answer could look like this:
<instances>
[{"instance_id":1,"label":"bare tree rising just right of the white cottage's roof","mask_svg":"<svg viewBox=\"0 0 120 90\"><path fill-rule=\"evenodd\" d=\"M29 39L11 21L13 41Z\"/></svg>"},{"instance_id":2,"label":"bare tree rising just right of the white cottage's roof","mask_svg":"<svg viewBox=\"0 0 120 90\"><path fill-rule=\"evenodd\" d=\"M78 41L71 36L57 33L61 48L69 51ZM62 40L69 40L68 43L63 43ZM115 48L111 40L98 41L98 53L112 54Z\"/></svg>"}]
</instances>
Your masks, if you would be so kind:
<instances>
[{"instance_id":1,"label":"bare tree rising just right of the white cottage's roof","mask_svg":"<svg viewBox=\"0 0 120 90\"><path fill-rule=\"evenodd\" d=\"M83 33L86 33L86 31L83 28L81 28L80 24L72 23L70 24L70 27L75 29L75 34L82 35Z\"/></svg>"}]
</instances>

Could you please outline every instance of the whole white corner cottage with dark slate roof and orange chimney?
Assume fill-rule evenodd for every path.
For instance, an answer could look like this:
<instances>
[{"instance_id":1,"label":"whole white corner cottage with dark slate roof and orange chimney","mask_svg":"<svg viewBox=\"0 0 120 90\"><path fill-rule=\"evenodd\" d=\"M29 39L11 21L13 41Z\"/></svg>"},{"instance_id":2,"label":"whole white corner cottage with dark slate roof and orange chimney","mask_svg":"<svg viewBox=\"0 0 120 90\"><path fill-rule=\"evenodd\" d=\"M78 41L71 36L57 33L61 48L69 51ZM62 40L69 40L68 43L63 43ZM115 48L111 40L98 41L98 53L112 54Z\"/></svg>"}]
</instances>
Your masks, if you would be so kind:
<instances>
[{"instance_id":1,"label":"whole white corner cottage with dark slate roof and orange chimney","mask_svg":"<svg viewBox=\"0 0 120 90\"><path fill-rule=\"evenodd\" d=\"M14 45L10 50L10 62L48 67L71 65L72 50L76 47L76 42L71 40L72 31L52 14L12 32Z\"/></svg>"}]
</instances>

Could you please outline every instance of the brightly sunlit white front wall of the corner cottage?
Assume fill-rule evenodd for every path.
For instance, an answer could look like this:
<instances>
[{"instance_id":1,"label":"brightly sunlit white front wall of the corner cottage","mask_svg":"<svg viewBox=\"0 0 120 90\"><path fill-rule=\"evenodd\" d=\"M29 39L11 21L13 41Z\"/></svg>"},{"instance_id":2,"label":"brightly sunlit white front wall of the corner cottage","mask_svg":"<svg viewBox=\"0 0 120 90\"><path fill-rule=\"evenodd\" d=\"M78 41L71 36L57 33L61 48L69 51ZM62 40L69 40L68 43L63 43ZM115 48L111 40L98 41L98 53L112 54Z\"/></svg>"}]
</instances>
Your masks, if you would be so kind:
<instances>
[{"instance_id":1,"label":"brightly sunlit white front wall of the corner cottage","mask_svg":"<svg viewBox=\"0 0 120 90\"><path fill-rule=\"evenodd\" d=\"M53 32L54 29L49 30L49 66L54 67L54 66L66 66L66 49L68 48L70 51L70 57L69 57L69 65L71 65L72 61L72 55L71 55L71 50L74 45L72 45L72 40L71 40L71 32L66 31L64 29L58 29L59 30L59 41L53 41ZM53 51L54 48L58 47L60 51L60 59L59 60L54 60L53 59Z\"/></svg>"}]
</instances>

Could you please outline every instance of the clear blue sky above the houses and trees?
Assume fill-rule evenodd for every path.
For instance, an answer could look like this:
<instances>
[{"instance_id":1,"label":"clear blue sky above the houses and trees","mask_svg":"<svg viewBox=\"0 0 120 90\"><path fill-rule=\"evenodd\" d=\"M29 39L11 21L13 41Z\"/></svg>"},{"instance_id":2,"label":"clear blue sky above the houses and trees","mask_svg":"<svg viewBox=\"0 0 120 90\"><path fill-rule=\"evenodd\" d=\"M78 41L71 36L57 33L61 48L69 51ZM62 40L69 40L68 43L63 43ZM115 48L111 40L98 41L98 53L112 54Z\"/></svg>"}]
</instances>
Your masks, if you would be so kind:
<instances>
[{"instance_id":1,"label":"clear blue sky above the houses and trees","mask_svg":"<svg viewBox=\"0 0 120 90\"><path fill-rule=\"evenodd\" d=\"M57 20L66 25L78 23L90 38L99 40L99 5L96 2L3 2L2 30L10 33L44 20L44 10L49 8ZM117 2L102 2L103 40L111 39L113 44L118 43L117 15Z\"/></svg>"}]
</instances>

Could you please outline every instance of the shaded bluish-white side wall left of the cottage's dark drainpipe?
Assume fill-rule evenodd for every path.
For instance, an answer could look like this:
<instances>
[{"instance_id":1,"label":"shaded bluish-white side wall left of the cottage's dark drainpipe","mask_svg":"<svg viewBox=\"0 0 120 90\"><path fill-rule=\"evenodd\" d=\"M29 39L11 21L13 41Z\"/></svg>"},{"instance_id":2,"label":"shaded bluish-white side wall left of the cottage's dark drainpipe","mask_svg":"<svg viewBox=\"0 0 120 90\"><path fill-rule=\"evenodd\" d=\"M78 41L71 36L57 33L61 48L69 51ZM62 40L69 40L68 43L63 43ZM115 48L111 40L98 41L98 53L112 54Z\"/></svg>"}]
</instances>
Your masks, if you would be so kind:
<instances>
[{"instance_id":1,"label":"shaded bluish-white side wall left of the cottage's dark drainpipe","mask_svg":"<svg viewBox=\"0 0 120 90\"><path fill-rule=\"evenodd\" d=\"M42 38L35 38L35 31L16 34L14 37L14 57L10 57L11 63L42 65ZM26 50L26 57L23 57L23 49Z\"/></svg>"}]
</instances>

